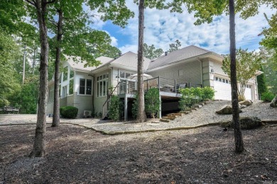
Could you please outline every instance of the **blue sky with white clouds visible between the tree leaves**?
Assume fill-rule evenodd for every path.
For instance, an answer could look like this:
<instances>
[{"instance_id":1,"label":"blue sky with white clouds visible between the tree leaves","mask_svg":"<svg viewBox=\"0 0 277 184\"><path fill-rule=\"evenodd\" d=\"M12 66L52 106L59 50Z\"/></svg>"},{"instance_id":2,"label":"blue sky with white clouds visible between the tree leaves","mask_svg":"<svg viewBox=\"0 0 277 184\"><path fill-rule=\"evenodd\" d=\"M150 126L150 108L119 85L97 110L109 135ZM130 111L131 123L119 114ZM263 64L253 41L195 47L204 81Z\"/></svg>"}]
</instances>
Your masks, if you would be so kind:
<instances>
[{"instance_id":1,"label":"blue sky with white clouds visible between the tree leaves","mask_svg":"<svg viewBox=\"0 0 277 184\"><path fill-rule=\"evenodd\" d=\"M129 20L126 28L113 25L110 21L96 21L94 28L105 30L112 38L112 45L121 52L136 52L138 45L138 6L132 0L126 1L128 7L136 13ZM229 16L218 16L210 24L194 25L196 19L193 13L188 13L185 7L183 13L170 13L168 10L146 8L144 42L155 45L164 51L169 44L180 40L182 47L196 45L219 54L229 52ZM261 6L259 14L243 20L236 16L237 48L259 50L262 28L268 26L263 13L269 17L274 13L270 8Z\"/></svg>"}]
</instances>

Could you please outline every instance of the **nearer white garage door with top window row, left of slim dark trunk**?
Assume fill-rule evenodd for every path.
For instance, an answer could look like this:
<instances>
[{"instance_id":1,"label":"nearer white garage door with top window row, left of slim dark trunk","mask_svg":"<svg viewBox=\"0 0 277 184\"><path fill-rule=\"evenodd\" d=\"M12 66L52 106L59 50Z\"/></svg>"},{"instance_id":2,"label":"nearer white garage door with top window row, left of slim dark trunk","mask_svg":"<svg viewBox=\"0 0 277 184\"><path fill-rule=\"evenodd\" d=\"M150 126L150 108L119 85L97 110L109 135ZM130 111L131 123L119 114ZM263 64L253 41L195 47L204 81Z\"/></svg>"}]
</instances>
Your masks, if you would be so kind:
<instances>
[{"instance_id":1,"label":"nearer white garage door with top window row, left of slim dark trunk","mask_svg":"<svg viewBox=\"0 0 277 184\"><path fill-rule=\"evenodd\" d=\"M214 77L214 99L215 100L232 100L231 81Z\"/></svg>"}]
</instances>

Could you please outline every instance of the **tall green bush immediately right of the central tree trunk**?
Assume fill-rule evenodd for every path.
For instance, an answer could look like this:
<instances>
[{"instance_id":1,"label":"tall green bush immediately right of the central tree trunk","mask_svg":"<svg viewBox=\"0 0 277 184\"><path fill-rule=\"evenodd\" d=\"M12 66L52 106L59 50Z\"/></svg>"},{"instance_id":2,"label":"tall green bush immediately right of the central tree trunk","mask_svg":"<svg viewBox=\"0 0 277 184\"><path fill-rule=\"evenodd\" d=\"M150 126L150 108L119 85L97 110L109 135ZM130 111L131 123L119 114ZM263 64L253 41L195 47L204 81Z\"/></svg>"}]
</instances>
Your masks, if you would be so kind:
<instances>
[{"instance_id":1,"label":"tall green bush immediately right of the central tree trunk","mask_svg":"<svg viewBox=\"0 0 277 184\"><path fill-rule=\"evenodd\" d=\"M155 118L155 115L159 112L161 105L158 88L150 88L144 98L146 113L150 114L152 118Z\"/></svg>"}]
</instances>

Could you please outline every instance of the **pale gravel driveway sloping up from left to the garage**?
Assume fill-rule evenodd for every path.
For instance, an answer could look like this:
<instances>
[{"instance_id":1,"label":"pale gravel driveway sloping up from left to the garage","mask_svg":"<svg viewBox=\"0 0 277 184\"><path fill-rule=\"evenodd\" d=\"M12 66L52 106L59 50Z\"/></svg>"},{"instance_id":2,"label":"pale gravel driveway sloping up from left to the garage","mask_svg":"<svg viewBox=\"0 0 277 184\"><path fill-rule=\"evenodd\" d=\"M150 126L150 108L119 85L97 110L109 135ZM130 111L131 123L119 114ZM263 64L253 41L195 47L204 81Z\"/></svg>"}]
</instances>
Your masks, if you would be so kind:
<instances>
[{"instance_id":1,"label":"pale gravel driveway sloping up from left to the garage","mask_svg":"<svg viewBox=\"0 0 277 184\"><path fill-rule=\"evenodd\" d=\"M112 122L111 120L99 119L61 119L62 123L70 123L81 125L99 132L143 132L155 130L168 130L178 127L191 127L212 122L221 122L232 120L232 115L218 115L215 113L223 105L230 105L231 101L219 100L211 101L202 108L192 110L192 113L178 117L170 122L153 123L153 120L148 122ZM240 116L255 116L261 120L277 120L277 108L271 108L269 103L254 102L253 105L242 109L243 113ZM52 118L47 117L47 122L51 123ZM29 124L36 123L36 115L0 115L0 125L7 124Z\"/></svg>"}]
</instances>

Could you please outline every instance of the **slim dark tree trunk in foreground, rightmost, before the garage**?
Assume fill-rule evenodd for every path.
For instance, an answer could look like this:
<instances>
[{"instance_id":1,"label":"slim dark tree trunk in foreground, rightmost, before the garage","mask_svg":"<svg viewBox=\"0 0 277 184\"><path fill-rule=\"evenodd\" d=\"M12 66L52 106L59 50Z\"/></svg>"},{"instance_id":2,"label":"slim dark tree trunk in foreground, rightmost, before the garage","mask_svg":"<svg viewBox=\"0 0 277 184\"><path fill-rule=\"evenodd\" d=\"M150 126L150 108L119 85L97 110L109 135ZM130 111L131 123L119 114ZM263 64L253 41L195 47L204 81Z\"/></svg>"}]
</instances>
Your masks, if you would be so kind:
<instances>
[{"instance_id":1,"label":"slim dark tree trunk in foreground, rightmost, before the garage","mask_svg":"<svg viewBox=\"0 0 277 184\"><path fill-rule=\"evenodd\" d=\"M239 100L237 95L237 69L236 69L236 36L234 21L234 0L229 0L229 26L230 26L230 69L231 69L231 87L232 87L232 113L234 122L234 143L235 151L241 153L244 151L244 142L241 135L241 125L239 122Z\"/></svg>"}]
</instances>

